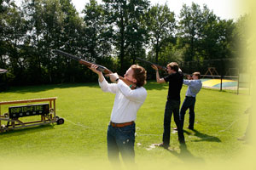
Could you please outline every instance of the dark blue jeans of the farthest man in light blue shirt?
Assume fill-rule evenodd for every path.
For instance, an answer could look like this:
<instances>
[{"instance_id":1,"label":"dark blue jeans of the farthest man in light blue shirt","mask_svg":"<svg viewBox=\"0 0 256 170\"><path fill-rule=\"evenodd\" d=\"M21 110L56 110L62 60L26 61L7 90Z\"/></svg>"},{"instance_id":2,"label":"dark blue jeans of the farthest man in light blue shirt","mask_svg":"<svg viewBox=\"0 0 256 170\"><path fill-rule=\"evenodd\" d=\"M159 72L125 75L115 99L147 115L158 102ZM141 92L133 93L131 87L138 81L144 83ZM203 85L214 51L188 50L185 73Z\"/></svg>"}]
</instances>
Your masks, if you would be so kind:
<instances>
[{"instance_id":1,"label":"dark blue jeans of the farthest man in light blue shirt","mask_svg":"<svg viewBox=\"0 0 256 170\"><path fill-rule=\"evenodd\" d=\"M180 109L180 120L182 123L182 128L184 124L184 117L186 114L186 111L189 109L189 128L194 129L194 123L195 123L195 98L186 96L183 105Z\"/></svg>"}]
</instances>

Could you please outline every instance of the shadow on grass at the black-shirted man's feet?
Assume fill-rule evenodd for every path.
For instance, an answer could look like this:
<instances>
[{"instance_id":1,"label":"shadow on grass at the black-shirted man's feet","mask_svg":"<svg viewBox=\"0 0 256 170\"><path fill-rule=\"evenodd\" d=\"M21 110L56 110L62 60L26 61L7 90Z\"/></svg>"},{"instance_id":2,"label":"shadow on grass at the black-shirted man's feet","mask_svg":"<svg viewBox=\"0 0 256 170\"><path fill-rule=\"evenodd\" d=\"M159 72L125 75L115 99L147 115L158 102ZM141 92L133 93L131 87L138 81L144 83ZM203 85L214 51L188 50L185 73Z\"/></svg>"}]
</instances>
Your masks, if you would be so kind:
<instances>
[{"instance_id":1,"label":"shadow on grass at the black-shirted man's feet","mask_svg":"<svg viewBox=\"0 0 256 170\"><path fill-rule=\"evenodd\" d=\"M185 161L187 163L204 163L205 161L201 157L196 157L191 154L191 152L188 150L186 144L180 144L179 146L180 152L178 153L177 150L168 150L172 155L177 156L182 161Z\"/></svg>"}]
</instances>

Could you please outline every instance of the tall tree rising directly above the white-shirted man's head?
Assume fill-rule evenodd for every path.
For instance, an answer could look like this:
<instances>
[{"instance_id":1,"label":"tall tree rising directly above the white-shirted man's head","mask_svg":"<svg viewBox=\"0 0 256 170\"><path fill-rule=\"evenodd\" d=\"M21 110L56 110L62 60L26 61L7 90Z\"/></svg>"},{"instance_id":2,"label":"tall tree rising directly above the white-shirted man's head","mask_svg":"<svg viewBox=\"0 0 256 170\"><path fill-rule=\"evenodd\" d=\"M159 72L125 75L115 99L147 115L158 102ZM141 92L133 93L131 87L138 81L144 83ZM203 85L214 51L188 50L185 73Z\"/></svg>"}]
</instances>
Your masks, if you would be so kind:
<instances>
[{"instance_id":1,"label":"tall tree rising directly above the white-shirted man's head","mask_svg":"<svg viewBox=\"0 0 256 170\"><path fill-rule=\"evenodd\" d=\"M118 53L120 74L122 74L126 70L125 67L130 65L127 62L129 61L128 50L134 47L134 44L143 42L143 28L140 24L149 3L147 0L102 0L102 2L109 32L112 32L113 46Z\"/></svg>"}]
</instances>

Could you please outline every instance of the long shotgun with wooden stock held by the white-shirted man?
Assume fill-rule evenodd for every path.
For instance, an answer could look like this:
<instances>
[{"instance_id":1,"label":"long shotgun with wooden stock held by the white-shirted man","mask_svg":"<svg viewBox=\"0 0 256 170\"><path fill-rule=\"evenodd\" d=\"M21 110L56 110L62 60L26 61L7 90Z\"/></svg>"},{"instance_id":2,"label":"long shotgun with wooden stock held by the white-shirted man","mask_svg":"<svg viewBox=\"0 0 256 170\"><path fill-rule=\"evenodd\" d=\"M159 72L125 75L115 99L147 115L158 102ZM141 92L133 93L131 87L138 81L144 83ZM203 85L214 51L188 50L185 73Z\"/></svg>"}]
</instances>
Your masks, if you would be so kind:
<instances>
[{"instance_id":1,"label":"long shotgun with wooden stock held by the white-shirted man","mask_svg":"<svg viewBox=\"0 0 256 170\"><path fill-rule=\"evenodd\" d=\"M91 65L97 65L97 64L94 64L94 63L91 63L90 61L87 61L87 60L84 60L84 59L80 59L79 57L73 55L73 54L68 54L64 51L61 51L59 49L55 49L55 50L52 50L52 52L54 54L61 54L61 55L64 55L70 59L75 59L77 61L79 61L79 64L81 65L86 65L88 68L90 68ZM104 74L112 74L113 72L112 71L109 71L108 68L106 68L105 66L102 66L102 65L97 65L97 69L98 71L102 71L102 73ZM124 77L120 77L119 76L119 79L122 80L123 82L125 82L125 84L127 84L132 90L137 88L136 87L136 84L133 83L133 82L130 82L128 80L126 80Z\"/></svg>"}]
</instances>

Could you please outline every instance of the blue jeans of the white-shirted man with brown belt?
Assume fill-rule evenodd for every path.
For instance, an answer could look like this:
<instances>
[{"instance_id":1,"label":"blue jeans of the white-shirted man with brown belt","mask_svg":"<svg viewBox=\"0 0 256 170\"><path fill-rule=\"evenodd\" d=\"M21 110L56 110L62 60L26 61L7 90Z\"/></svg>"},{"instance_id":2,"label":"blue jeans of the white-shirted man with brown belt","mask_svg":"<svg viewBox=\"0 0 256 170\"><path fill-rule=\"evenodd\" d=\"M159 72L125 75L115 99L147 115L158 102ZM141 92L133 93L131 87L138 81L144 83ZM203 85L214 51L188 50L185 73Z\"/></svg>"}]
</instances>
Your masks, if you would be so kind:
<instances>
[{"instance_id":1,"label":"blue jeans of the white-shirted man with brown belt","mask_svg":"<svg viewBox=\"0 0 256 170\"><path fill-rule=\"evenodd\" d=\"M108 160L113 164L119 163L119 153L125 164L135 162L135 123L125 127L108 125Z\"/></svg>"}]
</instances>

